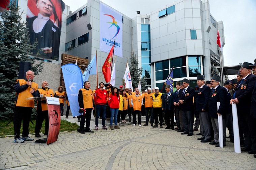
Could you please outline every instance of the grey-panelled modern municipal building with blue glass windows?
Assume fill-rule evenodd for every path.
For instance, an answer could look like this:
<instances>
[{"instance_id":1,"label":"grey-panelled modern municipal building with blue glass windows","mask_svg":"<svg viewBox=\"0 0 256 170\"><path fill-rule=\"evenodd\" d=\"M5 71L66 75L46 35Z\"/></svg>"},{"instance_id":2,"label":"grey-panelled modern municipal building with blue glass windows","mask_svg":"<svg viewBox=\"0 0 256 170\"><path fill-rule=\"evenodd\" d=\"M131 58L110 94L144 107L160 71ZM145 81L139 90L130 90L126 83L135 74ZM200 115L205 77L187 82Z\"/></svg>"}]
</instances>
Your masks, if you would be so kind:
<instances>
[{"instance_id":1,"label":"grey-panelled modern municipal building with blue glass windows","mask_svg":"<svg viewBox=\"0 0 256 170\"><path fill-rule=\"evenodd\" d=\"M19 1L24 11L25 2ZM108 53L99 51L100 3L88 0L74 12L65 6L59 61L49 62L61 64L62 53L90 61L97 49L98 74L102 75L102 65ZM122 14L122 11L118 12ZM212 74L220 74L211 67L220 66L224 61L216 43L219 29L225 44L224 27L222 21L216 21L211 15L209 0L177 0L145 14L137 13L135 18L122 14L123 56L116 57L116 86L122 84L126 62L132 51L138 57L138 67L143 68L143 75L151 87L162 88L172 68L174 84L188 78L192 87L196 85L197 75L203 74L210 80Z\"/></svg>"}]
</instances>

